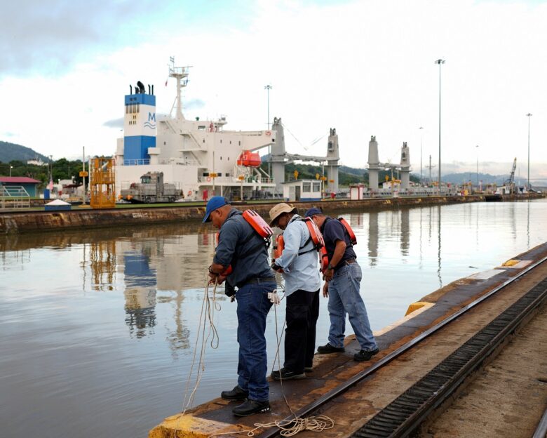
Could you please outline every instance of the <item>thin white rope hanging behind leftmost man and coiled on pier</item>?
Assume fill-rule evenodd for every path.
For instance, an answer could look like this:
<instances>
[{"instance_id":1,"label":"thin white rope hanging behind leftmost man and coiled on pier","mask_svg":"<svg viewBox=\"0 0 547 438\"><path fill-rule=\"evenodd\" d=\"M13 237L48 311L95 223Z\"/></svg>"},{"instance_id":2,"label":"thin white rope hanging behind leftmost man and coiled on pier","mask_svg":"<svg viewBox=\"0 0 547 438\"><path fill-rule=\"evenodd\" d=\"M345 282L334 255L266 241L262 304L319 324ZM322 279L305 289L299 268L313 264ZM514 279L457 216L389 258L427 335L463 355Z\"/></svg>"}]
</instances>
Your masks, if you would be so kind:
<instances>
[{"instance_id":1,"label":"thin white rope hanging behind leftmost man and coiled on pier","mask_svg":"<svg viewBox=\"0 0 547 438\"><path fill-rule=\"evenodd\" d=\"M283 295L283 298L285 296ZM281 336L279 336L278 333L278 324L277 324L277 308L276 305L274 305L274 313L276 315L276 340L277 340L277 351L276 351L276 357L274 357L274 364L276 363L276 360L278 362L278 369L281 371L281 357L279 354L279 350L281 350L281 339L283 338L283 330L285 329L285 324L287 323L287 319L285 318L285 321L283 321L283 328L281 329ZM272 371L274 369L272 368ZM281 378L280 373L280 379L279 383L281 384L281 394L283 394L283 399L285 399L285 404L287 404L290 413L292 413L292 416L295 418L292 418L292 420L276 420L271 421L270 423L255 423L254 429L251 430L239 430L236 432L219 432L215 434L210 434L208 438L211 437L218 437L220 435L227 435L227 434L247 434L248 437L254 437L255 432L260 429L266 429L268 427L278 427L281 432L282 437L292 437L296 435L299 432L302 432L303 430L310 430L311 432L323 432L323 430L332 429L335 427L335 420L332 420L332 418L327 416L316 416L316 417L308 417L308 418L302 418L297 416L295 411L292 410L292 407L289 404L289 401L287 397L285 396L285 390L283 390L283 378Z\"/></svg>"}]
</instances>

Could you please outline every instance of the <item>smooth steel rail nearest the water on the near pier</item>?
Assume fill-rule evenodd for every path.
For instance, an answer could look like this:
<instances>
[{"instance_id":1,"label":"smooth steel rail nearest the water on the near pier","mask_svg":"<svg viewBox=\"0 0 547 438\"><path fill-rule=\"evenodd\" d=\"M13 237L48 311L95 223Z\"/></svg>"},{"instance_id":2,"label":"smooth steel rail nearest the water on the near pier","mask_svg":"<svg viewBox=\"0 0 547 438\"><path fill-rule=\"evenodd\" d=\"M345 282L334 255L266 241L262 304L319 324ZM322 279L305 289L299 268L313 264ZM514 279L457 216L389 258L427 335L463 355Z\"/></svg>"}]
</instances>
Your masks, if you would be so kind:
<instances>
[{"instance_id":1,"label":"smooth steel rail nearest the water on the near pier","mask_svg":"<svg viewBox=\"0 0 547 438\"><path fill-rule=\"evenodd\" d=\"M495 293L497 293L501 289L506 288L508 285L512 284L513 281L516 281L520 277L524 276L525 274L533 270L535 267L541 265L541 263L545 262L546 260L547 260L547 257L544 257L536 261L535 263L532 263L531 265L525 267L525 269L520 271L514 277L511 277L510 279L504 281L504 283L491 289L490 291L480 296L476 300L473 300L473 302L469 303L465 307L462 307L460 310L450 315L449 317L446 317L445 319L443 319L443 321L440 321L438 324L435 324L435 326L428 328L423 333L420 333L416 338L413 338L412 340L408 341L404 345L401 345L397 350L393 350L393 352L387 354L385 357L375 362L369 368L363 371L360 371L349 380L346 380L346 382L343 383L342 385L335 387L329 392L323 394L317 400L312 401L311 404L308 404L307 406L304 406L302 409L299 409L299 411L296 412L296 416L297 417L310 416L311 413L317 411L320 408L320 406L323 406L323 404L327 403L328 401L332 399L335 399L336 397L343 394L344 392L349 390L351 387L359 383L361 380L367 378L368 376L371 376L373 373L375 373L376 371L378 371L379 369L383 368L384 366L389 364L391 361L393 361L393 359L396 359L401 354L410 350L410 348L414 347L414 345L417 345L422 340L428 338L428 336L431 336L433 333L440 330L440 328L443 328L444 326L446 326L447 324L450 324L455 319L458 319L459 317L461 317L462 314L468 312L468 310L471 310L476 305L479 305L480 303L482 303L482 301L487 300L489 297L493 296ZM288 416L287 418L285 418L285 420L290 421L293 418L294 418L293 416ZM259 438L276 437L276 435L279 434L279 432L281 432L280 429L278 429L277 427L275 428L272 427L271 429L262 432L262 434L259 434Z\"/></svg>"}]
</instances>

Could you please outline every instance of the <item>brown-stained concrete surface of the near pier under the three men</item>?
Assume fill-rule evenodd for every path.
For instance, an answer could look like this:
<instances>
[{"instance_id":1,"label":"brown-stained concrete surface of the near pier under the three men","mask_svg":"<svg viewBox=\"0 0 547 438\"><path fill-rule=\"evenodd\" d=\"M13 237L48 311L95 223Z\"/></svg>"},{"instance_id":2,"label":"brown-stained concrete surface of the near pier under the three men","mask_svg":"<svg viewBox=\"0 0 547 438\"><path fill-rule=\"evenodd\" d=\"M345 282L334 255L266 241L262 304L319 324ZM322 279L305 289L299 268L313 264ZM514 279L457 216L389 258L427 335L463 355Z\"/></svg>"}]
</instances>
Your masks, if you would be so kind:
<instances>
[{"instance_id":1,"label":"brown-stained concrete surface of the near pier under the three men","mask_svg":"<svg viewBox=\"0 0 547 438\"><path fill-rule=\"evenodd\" d=\"M177 414L166 418L163 423L149 432L149 438L205 438L211 434L237 437L241 434L236 432L252 430L255 428L255 423L283 420L283 418L290 415L283 394L292 410L298 411L363 371L363 369L381 360L390 352L412 340L419 333L426 331L476 298L515 277L531 263L545 257L547 257L547 242L532 248L526 253L516 255L512 260L500 260L499 266L492 267L492 270L453 281L440 290L424 296L420 300L426 303L423 307L419 307L418 310L415 310L407 317L403 317L400 321L396 321L391 326L375 333L381 351L371 361L361 363L353 361L353 353L359 349L353 336L346 338L345 353L316 354L313 371L306 373L307 378L286 381L283 386L278 382L271 381L271 413L248 418L236 418L231 413L231 409L236 406L236 403L214 399L187 411L184 415ZM365 424L381 409L384 409L391 401L424 377L428 371L431 371L441 360L452 354L454 350L463 345L466 340L488 324L489 321L492 321L546 277L547 263L541 263L525 276L520 277L518 281L514 281L501 289L494 296L477 307L473 307L459 319L442 328L434 336L426 338L426 340L415 345L411 350L394 359L384 368L379 369L374 375L351 387L337 399L327 402L321 407L320 413L332 418L335 421L335 427L321 432L321 437L350 436L358 427ZM477 386L475 387L473 387L475 384L472 383L468 386L468 389L464 389L464 392L461 393L462 401L454 404L453 411L447 411L449 416L441 416L438 422L432 423L429 429L426 430L426 434L422 436L475 436L478 430L484 432L480 436L530 436L525 432L529 432L534 422L535 424L539 422L547 406L547 384L544 383L547 377L545 376L547 332L538 329L541 327L541 318L544 319L544 317L545 307L540 310L536 320L532 320L532 323L530 323L532 325L529 325L527 331L522 331L524 333L522 339L515 338L513 341L513 345L517 345L522 340L524 342L522 344L524 352L511 353L511 350L507 350L508 359L504 359L504 356L501 355L499 359L496 359L490 365L493 368L482 371L485 376L499 380L497 387L489 385L489 383L483 383L481 380L477 380ZM281 333L279 334L281 335ZM318 333L318 340L321 339L321 336L324 336L324 334ZM236 350L234 350L234 354L236 354ZM514 362L519 354L522 357L518 360L527 362L522 364L522 373L521 367L518 366L520 362ZM496 365L498 360L505 360L504 365ZM236 370L234 369L234 385L235 382ZM506 387L503 383L506 383ZM492 386L489 387L489 392L483 391L485 385ZM219 394L221 390L225 389L231 389L231 387L220 387ZM529 398L522 399L521 394L528 394ZM472 413L466 413L465 406L478 404L475 399L466 399L471 395L478 397L478 400L482 399L482 405L486 404L487 400L494 403L496 399L504 398L503 401L500 400L497 404L494 403L494 406L490 409L493 414L491 423L482 420L480 410L476 411L474 416ZM519 412L518 409L515 409L518 404L526 405L526 415L524 413L522 415L515 414ZM504 409L507 411L504 411ZM513 413L512 409L515 409ZM520 411L522 411L522 408ZM452 412L452 416L450 416L450 412ZM443 418L448 419L443 423ZM497 423L500 418L503 418L506 423L511 423L512 426L504 429L503 425ZM473 425L461 428L461 434L458 434L459 431L454 429L457 429L457 425L465 421L471 421ZM493 432L494 430L496 432ZM501 432L502 430L511 430L511 433L505 434ZM256 430L255 435L259 432L262 432L262 430ZM466 432L471 433L471 435L466 434ZM312 432L301 432L299 436L311 437ZM316 432L313 432L313 436L317 436Z\"/></svg>"}]
</instances>

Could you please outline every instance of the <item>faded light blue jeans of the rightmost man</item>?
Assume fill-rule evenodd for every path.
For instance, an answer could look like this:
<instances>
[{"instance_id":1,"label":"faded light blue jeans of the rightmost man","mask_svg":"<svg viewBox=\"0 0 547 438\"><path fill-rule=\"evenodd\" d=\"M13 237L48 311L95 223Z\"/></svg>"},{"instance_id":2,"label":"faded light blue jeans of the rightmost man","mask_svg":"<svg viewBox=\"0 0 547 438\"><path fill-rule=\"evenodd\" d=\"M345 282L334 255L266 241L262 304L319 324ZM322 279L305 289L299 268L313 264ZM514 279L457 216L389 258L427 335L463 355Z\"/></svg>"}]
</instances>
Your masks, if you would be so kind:
<instances>
[{"instance_id":1,"label":"faded light blue jeans of the rightmost man","mask_svg":"<svg viewBox=\"0 0 547 438\"><path fill-rule=\"evenodd\" d=\"M365 303L360 296L361 277L361 267L358 263L352 263L339 268L329 283L329 343L333 347L344 347L346 314L349 314L349 323L361 349L372 351L378 347L370 329Z\"/></svg>"}]
</instances>

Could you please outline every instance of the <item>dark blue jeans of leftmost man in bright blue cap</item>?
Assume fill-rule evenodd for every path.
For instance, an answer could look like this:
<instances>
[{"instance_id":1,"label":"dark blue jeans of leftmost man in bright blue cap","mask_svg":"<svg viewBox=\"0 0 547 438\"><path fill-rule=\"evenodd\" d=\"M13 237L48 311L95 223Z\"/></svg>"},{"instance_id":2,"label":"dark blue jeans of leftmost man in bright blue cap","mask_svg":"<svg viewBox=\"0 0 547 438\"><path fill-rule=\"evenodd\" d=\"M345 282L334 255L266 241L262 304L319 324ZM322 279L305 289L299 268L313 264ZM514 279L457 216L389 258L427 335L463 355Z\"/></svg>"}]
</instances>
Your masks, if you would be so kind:
<instances>
[{"instance_id":1,"label":"dark blue jeans of leftmost man in bright blue cap","mask_svg":"<svg viewBox=\"0 0 547 438\"><path fill-rule=\"evenodd\" d=\"M276 288L275 281L246 284L238 289L238 385L249 391L252 400L268 400L269 385L266 380L266 315L271 303L268 293Z\"/></svg>"}]
</instances>

